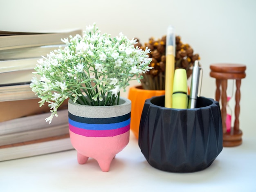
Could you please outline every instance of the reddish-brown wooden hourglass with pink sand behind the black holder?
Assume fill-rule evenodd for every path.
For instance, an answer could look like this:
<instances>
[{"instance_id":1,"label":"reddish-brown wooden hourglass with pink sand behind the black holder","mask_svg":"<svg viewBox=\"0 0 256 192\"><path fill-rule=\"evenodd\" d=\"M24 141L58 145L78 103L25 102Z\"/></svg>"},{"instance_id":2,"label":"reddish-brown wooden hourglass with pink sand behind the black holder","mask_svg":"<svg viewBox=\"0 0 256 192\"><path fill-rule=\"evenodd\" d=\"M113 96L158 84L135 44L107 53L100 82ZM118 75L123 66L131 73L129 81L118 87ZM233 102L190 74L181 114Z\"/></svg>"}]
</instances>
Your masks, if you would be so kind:
<instances>
[{"instance_id":1,"label":"reddish-brown wooden hourglass with pink sand behind the black holder","mask_svg":"<svg viewBox=\"0 0 256 192\"><path fill-rule=\"evenodd\" d=\"M210 65L210 76L216 78L216 101L221 99L221 117L222 117L222 128L223 128L223 146L234 147L242 144L242 131L239 129L239 114L240 114L240 86L241 79L245 78L245 65L240 64L228 64L228 63L217 63ZM235 121L234 127L231 131L227 132L226 128L226 117L227 117L227 80L236 80L236 93L235 93ZM220 90L220 86L221 89Z\"/></svg>"}]
</instances>

